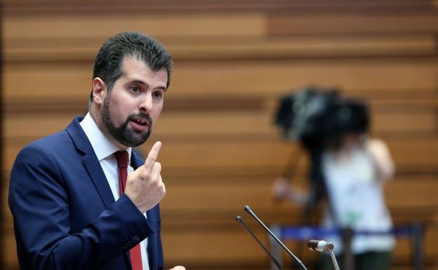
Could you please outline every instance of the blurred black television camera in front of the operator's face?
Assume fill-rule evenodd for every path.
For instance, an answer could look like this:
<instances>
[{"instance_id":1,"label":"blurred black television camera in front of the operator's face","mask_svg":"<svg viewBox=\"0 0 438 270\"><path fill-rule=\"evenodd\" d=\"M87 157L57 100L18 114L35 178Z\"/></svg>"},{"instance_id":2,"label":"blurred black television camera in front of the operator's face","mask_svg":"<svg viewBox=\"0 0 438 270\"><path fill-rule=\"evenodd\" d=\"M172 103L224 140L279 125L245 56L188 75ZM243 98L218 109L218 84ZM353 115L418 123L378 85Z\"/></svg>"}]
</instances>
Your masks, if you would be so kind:
<instances>
[{"instance_id":1,"label":"blurred black television camera in front of the operator's face","mask_svg":"<svg viewBox=\"0 0 438 270\"><path fill-rule=\"evenodd\" d=\"M300 140L307 151L337 147L345 133L366 133L368 107L346 99L339 90L308 86L281 97L274 123L288 140Z\"/></svg>"}]
</instances>

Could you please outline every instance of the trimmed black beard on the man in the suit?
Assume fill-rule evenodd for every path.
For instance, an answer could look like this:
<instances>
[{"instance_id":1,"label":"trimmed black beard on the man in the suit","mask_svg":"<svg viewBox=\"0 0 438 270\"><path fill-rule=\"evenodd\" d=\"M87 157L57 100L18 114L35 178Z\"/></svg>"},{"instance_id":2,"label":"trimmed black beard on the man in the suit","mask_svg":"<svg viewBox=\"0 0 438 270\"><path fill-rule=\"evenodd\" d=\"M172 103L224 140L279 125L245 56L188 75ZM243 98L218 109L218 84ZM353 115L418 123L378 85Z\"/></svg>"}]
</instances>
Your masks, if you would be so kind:
<instances>
[{"instance_id":1,"label":"trimmed black beard on the man in the suit","mask_svg":"<svg viewBox=\"0 0 438 270\"><path fill-rule=\"evenodd\" d=\"M103 101L103 107L102 107L102 123L105 124L105 127L107 128L108 132L114 140L117 140L117 142L127 146L127 147L138 147L140 144L143 144L146 142L147 138L151 134L151 126L152 126L152 119L150 118L149 114L137 114L137 115L130 115L128 116L128 119L124 123L122 123L120 126L115 126L111 119L110 114L110 95L107 95L105 97L105 100ZM128 122L130 119L134 118L141 118L143 120L148 121L148 129L147 133L140 133L128 130ZM137 135L137 136L135 136Z\"/></svg>"}]
</instances>

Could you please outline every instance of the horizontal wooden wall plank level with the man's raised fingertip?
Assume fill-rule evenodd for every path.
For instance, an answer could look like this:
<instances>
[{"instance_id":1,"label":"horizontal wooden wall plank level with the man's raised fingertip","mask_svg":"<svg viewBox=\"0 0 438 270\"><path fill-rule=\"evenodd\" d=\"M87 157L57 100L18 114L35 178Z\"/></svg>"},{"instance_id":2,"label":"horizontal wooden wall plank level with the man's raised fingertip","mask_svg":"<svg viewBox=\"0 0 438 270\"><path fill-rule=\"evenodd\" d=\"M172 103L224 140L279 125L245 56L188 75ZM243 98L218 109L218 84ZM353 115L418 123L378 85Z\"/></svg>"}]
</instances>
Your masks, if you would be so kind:
<instances>
[{"instance_id":1,"label":"horizontal wooden wall plank level with the man's raised fingertip","mask_svg":"<svg viewBox=\"0 0 438 270\"><path fill-rule=\"evenodd\" d=\"M153 136L150 141L140 147L147 153L152 143L159 138ZM214 140L214 138L213 138ZM297 153L297 144L289 144L279 141L259 141L242 138L241 140L220 141L172 141L162 140L163 149L160 152L160 160L168 170L178 174L180 171L190 168L203 170L214 175L220 170L234 172L244 170L251 174L252 170L264 169L269 173L281 173L281 168L286 166L288 156ZM26 142L25 142L26 143ZM257 147L254 147L257 145ZM422 138L422 140L400 139L390 140L388 143L392 151L392 157L399 170L416 171L415 168L434 172L438 166L438 140ZM6 168L11 168L15 156L22 145L8 144L4 149Z\"/></svg>"}]
</instances>

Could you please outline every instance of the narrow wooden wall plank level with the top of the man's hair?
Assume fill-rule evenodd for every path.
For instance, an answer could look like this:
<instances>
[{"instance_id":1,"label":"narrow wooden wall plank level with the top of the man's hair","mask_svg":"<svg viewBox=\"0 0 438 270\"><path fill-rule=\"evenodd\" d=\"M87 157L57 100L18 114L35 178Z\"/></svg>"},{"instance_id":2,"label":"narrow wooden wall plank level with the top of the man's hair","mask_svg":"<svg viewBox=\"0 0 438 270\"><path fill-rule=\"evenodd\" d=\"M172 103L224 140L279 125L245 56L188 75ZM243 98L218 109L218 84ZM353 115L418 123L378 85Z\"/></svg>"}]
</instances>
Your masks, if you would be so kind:
<instances>
[{"instance_id":1,"label":"narrow wooden wall plank level with the top of the man's hair","mask_svg":"<svg viewBox=\"0 0 438 270\"><path fill-rule=\"evenodd\" d=\"M205 59L272 59L272 58L333 58L361 55L376 57L389 55L434 55L437 44L433 35L400 34L395 36L280 36L263 39L260 36L229 35L159 36L178 60ZM5 60L78 61L93 58L103 38L78 39L7 39Z\"/></svg>"}]
</instances>

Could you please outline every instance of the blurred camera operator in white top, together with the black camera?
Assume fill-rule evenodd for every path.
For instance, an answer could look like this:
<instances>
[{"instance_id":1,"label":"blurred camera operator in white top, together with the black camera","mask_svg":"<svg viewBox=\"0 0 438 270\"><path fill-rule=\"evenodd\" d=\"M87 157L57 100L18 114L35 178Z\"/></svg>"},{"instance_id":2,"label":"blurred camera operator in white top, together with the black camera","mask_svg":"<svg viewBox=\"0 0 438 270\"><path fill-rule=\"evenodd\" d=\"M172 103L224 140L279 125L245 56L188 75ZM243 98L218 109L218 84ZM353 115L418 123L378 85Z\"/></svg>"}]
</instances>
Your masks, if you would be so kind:
<instances>
[{"instance_id":1,"label":"blurred camera operator in white top, together with the black camera","mask_svg":"<svg viewBox=\"0 0 438 270\"><path fill-rule=\"evenodd\" d=\"M277 124L284 120L281 114L284 116L289 112L285 132L294 134L289 138L298 138L310 154L312 189L320 192L312 189L299 191L288 184L285 177L279 177L272 185L274 196L300 205L312 205L315 203L314 194L322 193L328 202L321 220L321 227L326 229L392 229L383 183L392 177L394 165L385 143L368 135L366 105L314 88L307 88L288 99L291 110L284 111L283 100L279 109L283 112L277 115ZM319 109L311 105L315 99L319 99L316 102ZM297 106L305 109L297 109ZM300 130L297 130L297 123L300 123ZM326 240L334 243L334 251L342 264L344 250L340 236L327 237ZM394 238L390 235L353 236L350 247L354 269L390 269L393 246ZM333 269L328 256L323 257L321 266Z\"/></svg>"}]
</instances>

